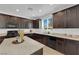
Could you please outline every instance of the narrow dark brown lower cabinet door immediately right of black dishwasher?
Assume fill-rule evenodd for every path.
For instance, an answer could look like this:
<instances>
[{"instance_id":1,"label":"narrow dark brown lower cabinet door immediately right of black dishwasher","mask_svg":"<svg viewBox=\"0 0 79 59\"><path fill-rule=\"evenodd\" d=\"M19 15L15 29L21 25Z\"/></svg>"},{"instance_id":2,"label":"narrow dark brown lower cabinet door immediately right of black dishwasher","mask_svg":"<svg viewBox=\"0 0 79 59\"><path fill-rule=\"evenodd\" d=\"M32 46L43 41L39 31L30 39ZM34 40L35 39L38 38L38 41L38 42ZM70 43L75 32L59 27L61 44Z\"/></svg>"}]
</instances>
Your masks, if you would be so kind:
<instances>
[{"instance_id":1,"label":"narrow dark brown lower cabinet door immediately right of black dishwasher","mask_svg":"<svg viewBox=\"0 0 79 59\"><path fill-rule=\"evenodd\" d=\"M64 39L62 38L56 39L56 50L64 53Z\"/></svg>"}]
</instances>

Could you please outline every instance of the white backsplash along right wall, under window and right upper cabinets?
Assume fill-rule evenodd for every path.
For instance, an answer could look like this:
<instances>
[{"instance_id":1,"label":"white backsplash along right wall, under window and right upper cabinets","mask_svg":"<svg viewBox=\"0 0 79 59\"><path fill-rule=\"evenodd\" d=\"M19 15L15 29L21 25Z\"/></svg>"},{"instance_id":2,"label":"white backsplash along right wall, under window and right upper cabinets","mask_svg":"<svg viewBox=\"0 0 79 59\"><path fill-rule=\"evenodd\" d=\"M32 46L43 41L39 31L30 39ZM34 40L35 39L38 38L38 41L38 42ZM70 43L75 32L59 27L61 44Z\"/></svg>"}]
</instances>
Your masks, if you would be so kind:
<instances>
[{"instance_id":1,"label":"white backsplash along right wall, under window and right upper cabinets","mask_svg":"<svg viewBox=\"0 0 79 59\"><path fill-rule=\"evenodd\" d=\"M50 33L60 33L60 34L69 34L69 35L79 35L79 28L63 28L63 29L48 29L42 30L43 32L50 32Z\"/></svg>"}]
</instances>

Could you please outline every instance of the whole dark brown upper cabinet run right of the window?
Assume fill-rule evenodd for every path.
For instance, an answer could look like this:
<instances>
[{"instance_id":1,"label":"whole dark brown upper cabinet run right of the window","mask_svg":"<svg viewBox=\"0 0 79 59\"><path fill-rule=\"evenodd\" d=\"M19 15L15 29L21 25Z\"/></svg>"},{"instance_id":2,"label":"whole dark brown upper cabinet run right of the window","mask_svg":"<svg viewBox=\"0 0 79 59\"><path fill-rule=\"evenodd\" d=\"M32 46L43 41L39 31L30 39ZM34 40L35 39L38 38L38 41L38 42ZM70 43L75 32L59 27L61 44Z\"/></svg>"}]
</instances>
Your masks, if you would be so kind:
<instances>
[{"instance_id":1,"label":"whole dark brown upper cabinet run right of the window","mask_svg":"<svg viewBox=\"0 0 79 59\"><path fill-rule=\"evenodd\" d=\"M54 28L79 28L79 5L53 14Z\"/></svg>"}]
</instances>

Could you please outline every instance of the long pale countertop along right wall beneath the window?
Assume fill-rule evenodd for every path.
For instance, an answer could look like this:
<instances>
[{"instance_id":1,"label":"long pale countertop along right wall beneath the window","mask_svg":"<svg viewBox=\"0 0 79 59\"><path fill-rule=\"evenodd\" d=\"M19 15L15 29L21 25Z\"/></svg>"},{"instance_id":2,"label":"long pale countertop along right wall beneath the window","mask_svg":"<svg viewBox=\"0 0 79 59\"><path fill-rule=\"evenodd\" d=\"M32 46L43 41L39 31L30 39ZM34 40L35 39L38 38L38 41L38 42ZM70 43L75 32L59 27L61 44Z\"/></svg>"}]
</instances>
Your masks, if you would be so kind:
<instances>
[{"instance_id":1,"label":"long pale countertop along right wall beneath the window","mask_svg":"<svg viewBox=\"0 0 79 59\"><path fill-rule=\"evenodd\" d=\"M37 33L37 34L43 34L43 35L49 35L49 36L79 41L79 35L68 35L68 34L59 34L59 33L52 33L52 34Z\"/></svg>"}]
</instances>

